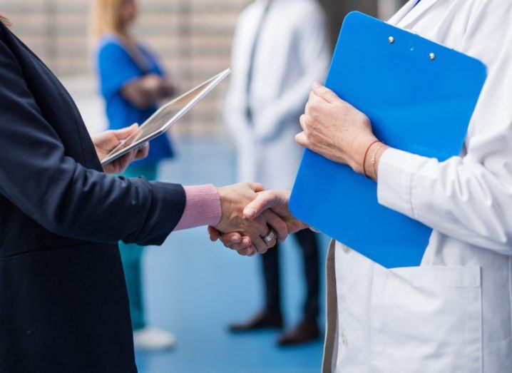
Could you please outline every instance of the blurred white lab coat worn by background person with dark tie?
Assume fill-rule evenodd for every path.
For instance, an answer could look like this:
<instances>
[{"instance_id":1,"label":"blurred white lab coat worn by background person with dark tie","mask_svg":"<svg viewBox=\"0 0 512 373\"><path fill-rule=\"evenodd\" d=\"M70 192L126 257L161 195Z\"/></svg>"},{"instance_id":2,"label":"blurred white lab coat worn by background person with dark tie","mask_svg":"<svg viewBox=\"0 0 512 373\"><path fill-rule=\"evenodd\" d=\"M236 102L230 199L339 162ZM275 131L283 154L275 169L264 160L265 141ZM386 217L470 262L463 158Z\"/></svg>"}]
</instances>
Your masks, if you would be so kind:
<instances>
[{"instance_id":1,"label":"blurred white lab coat worn by background person with dark tie","mask_svg":"<svg viewBox=\"0 0 512 373\"><path fill-rule=\"evenodd\" d=\"M314 0L272 0L256 50L246 118L250 54L267 1L257 0L237 21L232 46L232 77L225 121L235 140L238 177L266 188L290 189L302 148L295 143L314 81L324 81L329 47L324 13Z\"/></svg>"}]
</instances>

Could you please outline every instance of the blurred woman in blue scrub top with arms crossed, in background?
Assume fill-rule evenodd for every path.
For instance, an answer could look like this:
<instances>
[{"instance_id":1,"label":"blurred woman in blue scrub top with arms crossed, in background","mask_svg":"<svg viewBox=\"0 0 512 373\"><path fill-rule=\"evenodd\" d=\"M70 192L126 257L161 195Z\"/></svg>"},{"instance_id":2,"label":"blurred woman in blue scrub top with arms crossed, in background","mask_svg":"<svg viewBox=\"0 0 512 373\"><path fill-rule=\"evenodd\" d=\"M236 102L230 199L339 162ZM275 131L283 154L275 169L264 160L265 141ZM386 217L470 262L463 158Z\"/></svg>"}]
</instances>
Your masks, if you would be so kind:
<instances>
[{"instance_id":1,"label":"blurred woman in blue scrub top with arms crossed, in background","mask_svg":"<svg viewBox=\"0 0 512 373\"><path fill-rule=\"evenodd\" d=\"M138 16L135 0L96 0L91 12L91 36L96 44L96 69L106 115L111 129L132 123L142 124L163 98L174 93L173 82L165 75L154 53L135 40L131 29ZM173 158L168 136L150 142L148 158L130 165L123 175L157 179L158 163ZM173 347L169 332L148 327L144 315L142 257L144 248L119 242L126 277L135 348Z\"/></svg>"}]
</instances>

